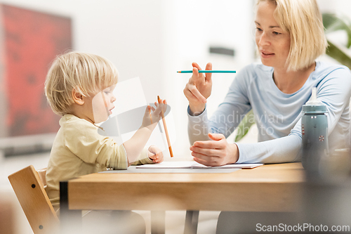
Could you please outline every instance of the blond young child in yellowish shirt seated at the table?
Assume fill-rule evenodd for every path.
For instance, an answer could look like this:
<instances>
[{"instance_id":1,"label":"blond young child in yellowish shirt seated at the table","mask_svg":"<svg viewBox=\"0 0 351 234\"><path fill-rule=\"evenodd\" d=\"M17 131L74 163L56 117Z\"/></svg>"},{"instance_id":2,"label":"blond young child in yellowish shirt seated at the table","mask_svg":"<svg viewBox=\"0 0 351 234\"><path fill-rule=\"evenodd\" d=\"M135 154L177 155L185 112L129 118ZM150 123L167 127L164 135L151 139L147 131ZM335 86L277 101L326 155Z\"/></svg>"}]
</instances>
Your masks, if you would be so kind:
<instances>
[{"instance_id":1,"label":"blond young child in yellowish shirt seated at the table","mask_svg":"<svg viewBox=\"0 0 351 234\"><path fill-rule=\"evenodd\" d=\"M117 143L98 134L99 122L112 114L112 94L118 72L109 60L90 53L70 52L58 56L46 76L45 93L53 112L62 116L46 172L46 193L56 211L60 181L107 168L127 169L133 164L162 162L164 155L152 145L145 148L166 110L166 100L147 106L143 124L133 137Z\"/></svg>"}]
</instances>

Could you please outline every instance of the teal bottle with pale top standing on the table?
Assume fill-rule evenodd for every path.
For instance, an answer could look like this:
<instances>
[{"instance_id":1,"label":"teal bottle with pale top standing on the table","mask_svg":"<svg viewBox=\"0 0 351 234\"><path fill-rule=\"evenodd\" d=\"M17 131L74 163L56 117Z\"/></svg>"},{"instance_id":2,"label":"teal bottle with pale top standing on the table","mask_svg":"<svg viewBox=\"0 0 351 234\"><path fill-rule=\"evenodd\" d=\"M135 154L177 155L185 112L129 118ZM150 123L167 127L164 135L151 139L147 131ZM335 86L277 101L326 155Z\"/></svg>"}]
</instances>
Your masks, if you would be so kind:
<instances>
[{"instance_id":1,"label":"teal bottle with pale top standing on the table","mask_svg":"<svg viewBox=\"0 0 351 234\"><path fill-rule=\"evenodd\" d=\"M303 138L303 167L307 176L321 176L321 160L329 155L328 119L326 105L317 100L317 90L312 88L312 96L303 105L301 134Z\"/></svg>"}]
</instances>

